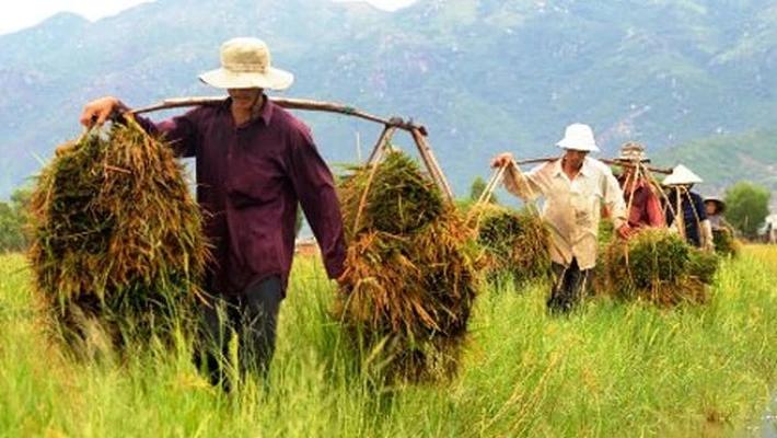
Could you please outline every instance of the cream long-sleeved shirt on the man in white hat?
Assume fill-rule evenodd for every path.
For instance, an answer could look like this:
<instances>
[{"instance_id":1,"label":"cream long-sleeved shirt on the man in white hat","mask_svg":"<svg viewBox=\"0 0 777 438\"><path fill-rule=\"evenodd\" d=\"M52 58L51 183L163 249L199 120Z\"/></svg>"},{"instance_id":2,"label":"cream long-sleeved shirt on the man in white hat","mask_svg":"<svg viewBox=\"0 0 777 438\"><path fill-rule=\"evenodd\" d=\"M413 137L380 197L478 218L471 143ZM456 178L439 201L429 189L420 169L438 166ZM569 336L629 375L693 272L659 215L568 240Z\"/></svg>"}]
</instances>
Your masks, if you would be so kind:
<instances>
[{"instance_id":1,"label":"cream long-sleeved shirt on the man in white hat","mask_svg":"<svg viewBox=\"0 0 777 438\"><path fill-rule=\"evenodd\" d=\"M590 157L585 157L571 181L561 169L561 159L526 173L510 163L505 172L505 187L524 200L545 198L543 217L550 228L550 258L564 266L569 266L572 257L580 269L596 264L602 204L607 207L615 229L626 223L626 204L617 180L606 164Z\"/></svg>"}]
</instances>

